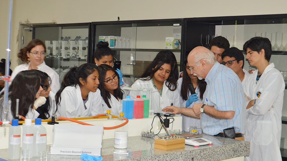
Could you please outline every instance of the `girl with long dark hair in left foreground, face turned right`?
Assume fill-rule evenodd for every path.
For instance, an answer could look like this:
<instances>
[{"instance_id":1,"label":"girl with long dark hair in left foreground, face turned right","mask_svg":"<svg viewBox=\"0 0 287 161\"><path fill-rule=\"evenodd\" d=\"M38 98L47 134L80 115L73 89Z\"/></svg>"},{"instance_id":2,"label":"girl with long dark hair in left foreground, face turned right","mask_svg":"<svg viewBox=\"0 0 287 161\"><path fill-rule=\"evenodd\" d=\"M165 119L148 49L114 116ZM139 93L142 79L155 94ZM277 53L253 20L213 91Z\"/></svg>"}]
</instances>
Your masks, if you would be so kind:
<instances>
[{"instance_id":1,"label":"girl with long dark hair in left foreground, face turned right","mask_svg":"<svg viewBox=\"0 0 287 161\"><path fill-rule=\"evenodd\" d=\"M39 113L33 109L36 99L40 97L43 88L40 86L40 75L35 71L22 71L17 74L12 84L9 86L7 121L15 119L16 99L19 99L19 115L33 119L39 116ZM0 94L0 120L5 119L4 93Z\"/></svg>"}]
</instances>

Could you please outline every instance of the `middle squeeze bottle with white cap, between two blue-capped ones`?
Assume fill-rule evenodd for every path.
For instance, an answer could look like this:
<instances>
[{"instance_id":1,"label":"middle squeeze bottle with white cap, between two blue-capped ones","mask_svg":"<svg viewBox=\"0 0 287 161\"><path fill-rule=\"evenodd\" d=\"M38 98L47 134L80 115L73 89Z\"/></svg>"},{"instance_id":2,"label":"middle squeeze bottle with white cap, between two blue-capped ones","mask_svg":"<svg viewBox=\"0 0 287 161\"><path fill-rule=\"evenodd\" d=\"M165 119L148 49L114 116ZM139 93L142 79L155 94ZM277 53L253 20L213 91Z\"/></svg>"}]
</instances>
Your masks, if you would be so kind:
<instances>
[{"instance_id":1,"label":"middle squeeze bottle with white cap, between two blue-capped ones","mask_svg":"<svg viewBox=\"0 0 287 161\"><path fill-rule=\"evenodd\" d=\"M31 125L31 119L25 119L25 125L22 126L22 149L29 150L29 158L33 158L34 127Z\"/></svg>"}]
</instances>

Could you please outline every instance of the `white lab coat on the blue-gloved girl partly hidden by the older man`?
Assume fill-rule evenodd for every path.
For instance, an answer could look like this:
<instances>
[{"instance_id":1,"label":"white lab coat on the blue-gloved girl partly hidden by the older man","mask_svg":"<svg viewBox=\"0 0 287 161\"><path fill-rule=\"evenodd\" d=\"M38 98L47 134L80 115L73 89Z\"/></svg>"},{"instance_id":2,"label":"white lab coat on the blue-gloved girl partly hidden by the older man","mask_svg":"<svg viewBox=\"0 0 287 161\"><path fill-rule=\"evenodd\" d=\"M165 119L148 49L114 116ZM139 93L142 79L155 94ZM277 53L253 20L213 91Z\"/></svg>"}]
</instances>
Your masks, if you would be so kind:
<instances>
[{"instance_id":1,"label":"white lab coat on the blue-gloved girl partly hidden by the older man","mask_svg":"<svg viewBox=\"0 0 287 161\"><path fill-rule=\"evenodd\" d=\"M182 85L182 77L177 80L177 84L178 84L177 90L178 90L178 93L180 95L180 93L181 93L181 85ZM199 98L200 97L200 92L199 92L198 86L195 89L195 93L197 93L197 96ZM189 98L190 95L191 95L191 93L189 92L187 98ZM186 107L186 102L187 102L187 100L184 101L182 99L182 97L180 96L180 107ZM187 107L187 108L192 108L192 106L195 103L202 103L202 100L199 99L198 101L192 102L191 105L189 107ZM183 114L181 114L181 116L182 116L182 130L184 130L186 132L189 132L190 126L197 126L197 128L200 128L200 119L196 119L196 118L193 118L193 117L190 117L190 116L186 116L186 115L183 115Z\"/></svg>"}]
</instances>

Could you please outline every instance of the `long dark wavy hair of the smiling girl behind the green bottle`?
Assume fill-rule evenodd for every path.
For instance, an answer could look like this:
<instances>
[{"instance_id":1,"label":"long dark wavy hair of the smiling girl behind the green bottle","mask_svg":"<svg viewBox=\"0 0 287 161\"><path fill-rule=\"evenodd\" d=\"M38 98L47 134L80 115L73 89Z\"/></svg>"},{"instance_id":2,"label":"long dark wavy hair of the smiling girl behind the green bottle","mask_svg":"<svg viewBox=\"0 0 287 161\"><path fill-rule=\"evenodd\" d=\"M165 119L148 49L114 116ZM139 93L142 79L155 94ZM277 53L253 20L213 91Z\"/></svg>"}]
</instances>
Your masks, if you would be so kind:
<instances>
[{"instance_id":1,"label":"long dark wavy hair of the smiling girl behind the green bottle","mask_svg":"<svg viewBox=\"0 0 287 161\"><path fill-rule=\"evenodd\" d=\"M176 81L178 79L178 66L174 54L169 50L160 51L148 67L145 68L139 79L143 81L151 80L154 73L157 72L163 64L170 64L171 66L171 72L165 84L168 89L175 91L177 87Z\"/></svg>"}]
</instances>

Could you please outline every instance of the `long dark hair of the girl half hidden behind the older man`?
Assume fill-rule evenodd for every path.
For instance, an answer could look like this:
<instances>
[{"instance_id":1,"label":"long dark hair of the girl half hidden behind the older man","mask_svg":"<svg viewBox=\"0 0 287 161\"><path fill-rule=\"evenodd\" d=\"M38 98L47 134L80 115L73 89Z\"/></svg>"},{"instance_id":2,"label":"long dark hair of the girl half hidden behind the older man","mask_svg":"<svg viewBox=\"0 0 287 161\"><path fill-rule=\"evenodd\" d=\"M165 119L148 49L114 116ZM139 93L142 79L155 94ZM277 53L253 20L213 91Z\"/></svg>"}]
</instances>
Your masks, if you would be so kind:
<instances>
[{"instance_id":1,"label":"long dark hair of the girl half hidden behind the older man","mask_svg":"<svg viewBox=\"0 0 287 161\"><path fill-rule=\"evenodd\" d=\"M184 61L185 67L187 64L187 57ZM186 72L186 69L183 69L183 76L182 76L182 84L181 84L181 93L180 96L182 97L182 99L184 101L186 101L188 99L189 96L189 89L188 89L188 84L191 83L191 79L188 76L188 73ZM203 99L203 94L205 92L206 89L206 82L204 79L199 80L197 79L197 86L199 88L199 92L200 92L200 96L199 98L202 100Z\"/></svg>"}]
</instances>

